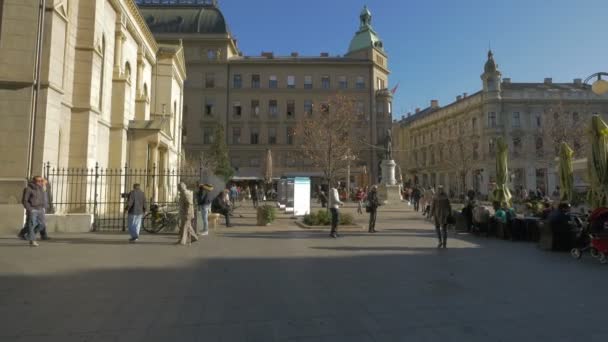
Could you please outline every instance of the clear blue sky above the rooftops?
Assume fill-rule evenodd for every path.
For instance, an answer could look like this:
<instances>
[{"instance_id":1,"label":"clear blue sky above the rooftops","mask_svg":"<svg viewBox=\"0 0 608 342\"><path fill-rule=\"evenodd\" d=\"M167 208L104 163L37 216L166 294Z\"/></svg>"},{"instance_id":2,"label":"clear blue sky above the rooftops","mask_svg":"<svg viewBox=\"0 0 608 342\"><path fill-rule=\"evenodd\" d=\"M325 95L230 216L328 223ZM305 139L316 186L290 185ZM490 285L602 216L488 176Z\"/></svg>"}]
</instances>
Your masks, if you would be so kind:
<instances>
[{"instance_id":1,"label":"clear blue sky above the rooftops","mask_svg":"<svg viewBox=\"0 0 608 342\"><path fill-rule=\"evenodd\" d=\"M491 44L513 82L608 71L608 0L220 0L248 55L343 55L367 4L389 54L394 117L481 87Z\"/></svg>"}]
</instances>

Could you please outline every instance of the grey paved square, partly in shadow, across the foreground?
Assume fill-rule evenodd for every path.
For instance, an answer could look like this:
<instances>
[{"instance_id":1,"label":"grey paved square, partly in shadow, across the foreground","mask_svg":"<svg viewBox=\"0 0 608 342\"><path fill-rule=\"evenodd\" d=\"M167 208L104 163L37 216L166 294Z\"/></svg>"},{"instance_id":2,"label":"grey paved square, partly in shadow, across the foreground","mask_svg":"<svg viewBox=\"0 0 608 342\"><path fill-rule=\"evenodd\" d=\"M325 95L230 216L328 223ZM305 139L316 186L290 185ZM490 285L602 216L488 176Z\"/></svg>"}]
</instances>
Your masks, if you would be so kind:
<instances>
[{"instance_id":1,"label":"grey paved square, partly in shadow, across the foreground","mask_svg":"<svg viewBox=\"0 0 608 342\"><path fill-rule=\"evenodd\" d=\"M0 239L0 341L606 341L608 268L383 208L380 232L287 216L174 236ZM351 211L347 208L344 211ZM364 223L365 216L357 218Z\"/></svg>"}]
</instances>

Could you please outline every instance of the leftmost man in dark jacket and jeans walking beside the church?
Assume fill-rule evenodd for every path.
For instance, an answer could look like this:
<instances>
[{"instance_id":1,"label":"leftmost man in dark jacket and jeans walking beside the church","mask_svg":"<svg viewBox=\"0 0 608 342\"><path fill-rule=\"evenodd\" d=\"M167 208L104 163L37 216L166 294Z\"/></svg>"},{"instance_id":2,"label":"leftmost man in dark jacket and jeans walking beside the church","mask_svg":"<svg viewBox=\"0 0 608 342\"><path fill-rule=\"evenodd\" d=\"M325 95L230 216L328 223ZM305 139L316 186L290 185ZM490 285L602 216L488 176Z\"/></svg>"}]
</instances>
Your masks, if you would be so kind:
<instances>
[{"instance_id":1,"label":"leftmost man in dark jacket and jeans walking beside the church","mask_svg":"<svg viewBox=\"0 0 608 342\"><path fill-rule=\"evenodd\" d=\"M36 226L46 227L44 209L48 200L42 188L43 184L44 179L42 177L34 177L32 182L23 190L23 197L21 199L27 217L27 239L32 247L38 247L38 243L36 242Z\"/></svg>"}]
</instances>

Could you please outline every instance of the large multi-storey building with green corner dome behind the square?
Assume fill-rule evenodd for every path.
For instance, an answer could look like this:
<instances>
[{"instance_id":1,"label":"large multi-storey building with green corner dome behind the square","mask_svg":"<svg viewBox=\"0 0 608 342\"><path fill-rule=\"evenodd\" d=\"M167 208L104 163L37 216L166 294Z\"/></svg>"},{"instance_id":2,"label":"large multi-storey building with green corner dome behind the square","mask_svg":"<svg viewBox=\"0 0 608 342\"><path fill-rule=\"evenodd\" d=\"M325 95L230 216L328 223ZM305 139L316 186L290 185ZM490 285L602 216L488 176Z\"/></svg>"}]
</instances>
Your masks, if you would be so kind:
<instances>
[{"instance_id":1,"label":"large multi-storey building with green corner dome behind the square","mask_svg":"<svg viewBox=\"0 0 608 342\"><path fill-rule=\"evenodd\" d=\"M367 122L352 178L378 171L381 144L392 125L388 87L388 56L371 25L367 8L347 53L316 57L247 56L239 50L226 20L212 0L139 0L143 17L162 39L182 39L188 81L184 97L184 148L193 159L209 149L217 124L225 128L237 179L263 177L266 150L271 149L274 175L321 175L302 158L294 132L298 123L319 115L327 98L349 94L358 101ZM364 167L365 166L365 167Z\"/></svg>"}]
</instances>

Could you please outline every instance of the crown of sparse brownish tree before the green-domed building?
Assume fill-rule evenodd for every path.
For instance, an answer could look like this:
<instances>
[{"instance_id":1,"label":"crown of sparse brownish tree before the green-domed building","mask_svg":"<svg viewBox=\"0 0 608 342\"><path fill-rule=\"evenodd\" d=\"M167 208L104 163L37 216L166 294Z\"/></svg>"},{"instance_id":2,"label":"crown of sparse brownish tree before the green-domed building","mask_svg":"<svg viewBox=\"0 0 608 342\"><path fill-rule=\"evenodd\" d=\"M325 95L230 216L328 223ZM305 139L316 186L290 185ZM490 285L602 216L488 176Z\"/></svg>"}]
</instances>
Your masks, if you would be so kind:
<instances>
[{"instance_id":1,"label":"crown of sparse brownish tree before the green-domed building","mask_svg":"<svg viewBox=\"0 0 608 342\"><path fill-rule=\"evenodd\" d=\"M302 120L296 130L300 136L301 152L314 166L323 170L332 184L344 174L359 149L354 137L357 120L356 101L352 96L336 94L323 102L319 110Z\"/></svg>"}]
</instances>

